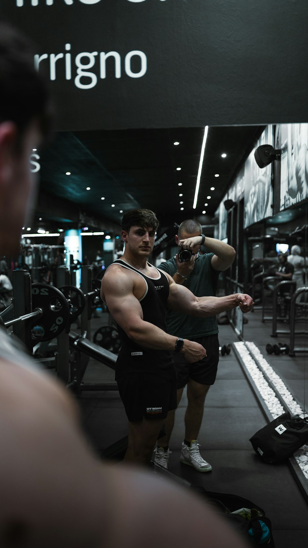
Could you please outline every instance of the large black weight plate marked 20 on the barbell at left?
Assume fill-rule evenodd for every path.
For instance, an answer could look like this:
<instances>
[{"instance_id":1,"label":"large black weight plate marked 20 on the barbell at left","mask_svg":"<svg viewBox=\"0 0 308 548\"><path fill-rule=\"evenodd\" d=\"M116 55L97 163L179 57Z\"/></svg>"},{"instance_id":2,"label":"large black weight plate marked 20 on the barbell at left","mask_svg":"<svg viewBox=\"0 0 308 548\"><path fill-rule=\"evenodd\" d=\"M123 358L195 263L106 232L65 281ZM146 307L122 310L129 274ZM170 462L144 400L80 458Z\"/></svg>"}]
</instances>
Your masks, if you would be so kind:
<instances>
[{"instance_id":1,"label":"large black weight plate marked 20 on the barbell at left","mask_svg":"<svg viewBox=\"0 0 308 548\"><path fill-rule=\"evenodd\" d=\"M49 284L32 284L32 310L38 307L43 310L43 316L31 318L33 345L37 343L36 335L40 341L49 341L60 335L69 318L65 296Z\"/></svg>"}]
</instances>

